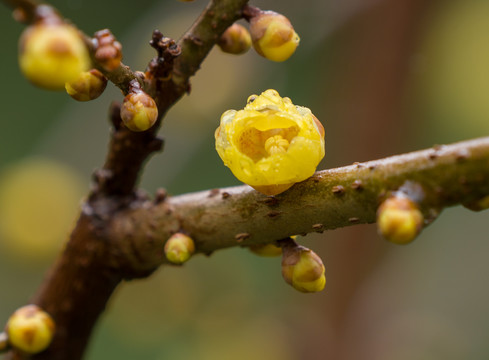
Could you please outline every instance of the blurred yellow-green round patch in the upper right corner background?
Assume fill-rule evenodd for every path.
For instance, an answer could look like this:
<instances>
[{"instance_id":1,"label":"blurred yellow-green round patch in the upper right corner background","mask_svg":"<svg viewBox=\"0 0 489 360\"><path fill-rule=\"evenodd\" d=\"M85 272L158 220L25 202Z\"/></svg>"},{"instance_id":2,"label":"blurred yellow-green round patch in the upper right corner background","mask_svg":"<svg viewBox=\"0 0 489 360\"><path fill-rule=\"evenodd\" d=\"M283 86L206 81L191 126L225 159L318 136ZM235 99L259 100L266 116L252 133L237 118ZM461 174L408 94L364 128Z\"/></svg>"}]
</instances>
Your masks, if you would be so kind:
<instances>
[{"instance_id":1,"label":"blurred yellow-green round patch in the upper right corner background","mask_svg":"<svg viewBox=\"0 0 489 360\"><path fill-rule=\"evenodd\" d=\"M448 1L435 11L412 58L416 115L427 122L426 137L440 143L483 136L489 130L489 2Z\"/></svg>"}]
</instances>

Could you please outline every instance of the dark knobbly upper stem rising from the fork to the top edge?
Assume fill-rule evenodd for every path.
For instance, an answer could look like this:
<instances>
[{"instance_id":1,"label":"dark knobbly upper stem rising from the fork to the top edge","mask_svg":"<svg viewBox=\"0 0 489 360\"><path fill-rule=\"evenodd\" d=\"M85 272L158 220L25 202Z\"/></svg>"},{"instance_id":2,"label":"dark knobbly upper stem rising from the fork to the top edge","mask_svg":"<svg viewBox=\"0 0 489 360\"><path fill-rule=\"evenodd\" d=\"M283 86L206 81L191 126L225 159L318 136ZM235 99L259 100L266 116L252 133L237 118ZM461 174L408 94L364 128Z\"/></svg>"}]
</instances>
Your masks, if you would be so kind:
<instances>
[{"instance_id":1,"label":"dark knobbly upper stem rising from the fork to the top edge","mask_svg":"<svg viewBox=\"0 0 489 360\"><path fill-rule=\"evenodd\" d=\"M216 44L220 35L238 20L241 8L248 0L213 0L178 41L181 55L175 58L166 81L153 78L147 84L148 93L158 105L159 120L148 131L134 133L127 128L115 128L107 160L101 172L101 182L92 196L131 197L148 157L161 148L156 133L166 112L190 91L189 79ZM113 112L114 114L114 112ZM117 116L117 114L115 114ZM130 158L130 161L128 161Z\"/></svg>"}]
</instances>

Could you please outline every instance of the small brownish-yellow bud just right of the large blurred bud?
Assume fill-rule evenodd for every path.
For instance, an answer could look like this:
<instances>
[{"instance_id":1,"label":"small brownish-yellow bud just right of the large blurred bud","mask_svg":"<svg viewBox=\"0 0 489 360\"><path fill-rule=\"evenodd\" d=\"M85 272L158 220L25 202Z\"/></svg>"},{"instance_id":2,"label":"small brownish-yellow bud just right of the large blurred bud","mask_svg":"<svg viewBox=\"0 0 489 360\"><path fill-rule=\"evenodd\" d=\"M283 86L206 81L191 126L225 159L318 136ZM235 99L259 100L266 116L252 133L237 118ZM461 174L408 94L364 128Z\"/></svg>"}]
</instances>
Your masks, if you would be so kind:
<instances>
[{"instance_id":1,"label":"small brownish-yellow bud just right of the large blurred bud","mask_svg":"<svg viewBox=\"0 0 489 360\"><path fill-rule=\"evenodd\" d=\"M66 92L75 100L89 101L98 98L107 86L107 78L98 70L80 73L78 78L65 84Z\"/></svg>"}]
</instances>

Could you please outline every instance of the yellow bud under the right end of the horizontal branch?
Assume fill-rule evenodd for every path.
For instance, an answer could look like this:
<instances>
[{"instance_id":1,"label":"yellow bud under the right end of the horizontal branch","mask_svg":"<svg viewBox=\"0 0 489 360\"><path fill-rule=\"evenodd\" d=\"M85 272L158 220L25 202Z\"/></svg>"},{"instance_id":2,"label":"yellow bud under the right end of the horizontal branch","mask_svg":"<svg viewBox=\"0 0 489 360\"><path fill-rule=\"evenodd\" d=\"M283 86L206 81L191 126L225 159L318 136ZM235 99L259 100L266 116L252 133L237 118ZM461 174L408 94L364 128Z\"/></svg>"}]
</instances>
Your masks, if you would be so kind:
<instances>
[{"instance_id":1,"label":"yellow bud under the right end of the horizontal branch","mask_svg":"<svg viewBox=\"0 0 489 360\"><path fill-rule=\"evenodd\" d=\"M390 242L407 244L413 241L423 227L423 214L405 195L386 199L377 210L377 227Z\"/></svg>"}]
</instances>

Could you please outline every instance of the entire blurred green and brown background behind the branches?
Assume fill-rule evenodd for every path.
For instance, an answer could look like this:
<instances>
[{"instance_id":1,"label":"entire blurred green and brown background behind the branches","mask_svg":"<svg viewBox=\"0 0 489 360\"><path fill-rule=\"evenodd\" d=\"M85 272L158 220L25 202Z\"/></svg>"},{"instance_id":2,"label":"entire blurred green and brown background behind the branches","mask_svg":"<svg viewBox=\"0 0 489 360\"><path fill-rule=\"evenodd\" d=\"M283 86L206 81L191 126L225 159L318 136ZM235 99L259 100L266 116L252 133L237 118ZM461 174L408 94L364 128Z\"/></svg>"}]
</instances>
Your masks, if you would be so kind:
<instances>
[{"instance_id":1,"label":"entire blurred green and brown background behind the branches","mask_svg":"<svg viewBox=\"0 0 489 360\"><path fill-rule=\"evenodd\" d=\"M143 70L151 32L178 38L204 0L53 4L86 33L110 28ZM221 113L267 88L307 106L326 130L321 169L489 132L489 1L254 2L288 16L296 54L271 63L214 50L192 94L165 119L165 151L142 187L171 194L238 184L214 151ZM23 26L0 5L0 323L29 301L104 161L110 87L75 103L37 89L17 65ZM198 175L197 175L198 174ZM47 201L46 199L50 199ZM47 207L48 206L48 207ZM374 225L301 238L326 266L320 294L286 285L280 259L244 249L196 256L125 283L87 359L404 360L489 358L488 213L447 209L408 246Z\"/></svg>"}]
</instances>

